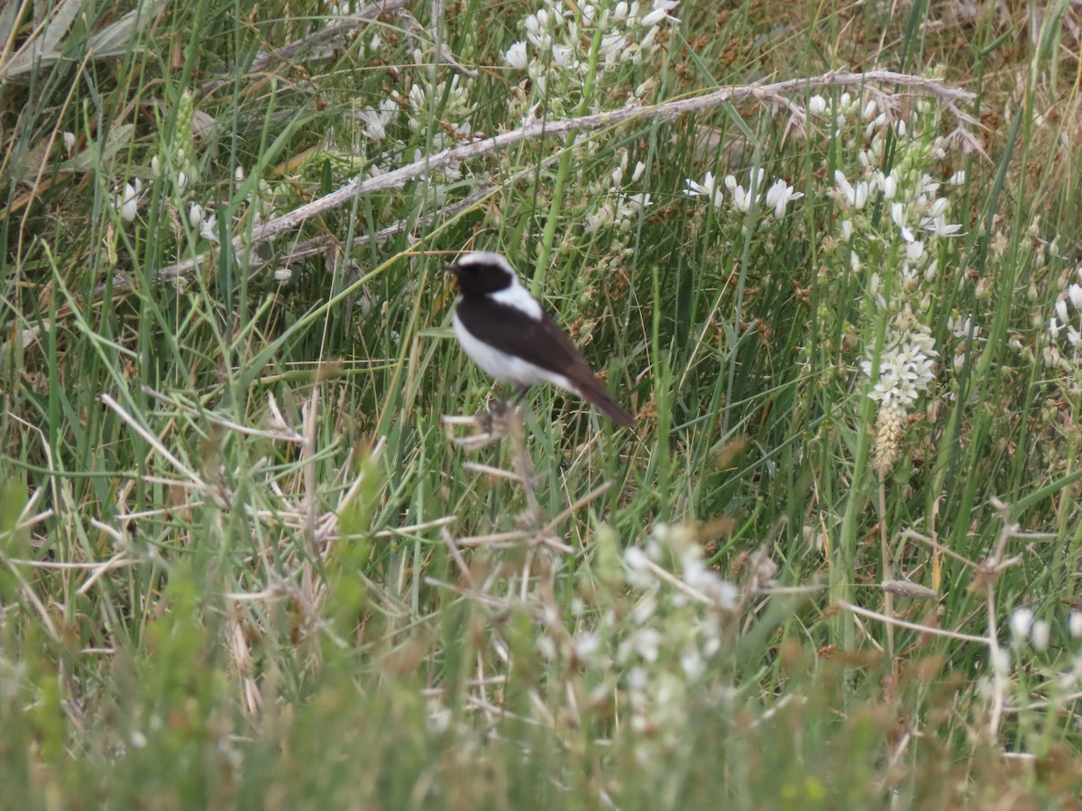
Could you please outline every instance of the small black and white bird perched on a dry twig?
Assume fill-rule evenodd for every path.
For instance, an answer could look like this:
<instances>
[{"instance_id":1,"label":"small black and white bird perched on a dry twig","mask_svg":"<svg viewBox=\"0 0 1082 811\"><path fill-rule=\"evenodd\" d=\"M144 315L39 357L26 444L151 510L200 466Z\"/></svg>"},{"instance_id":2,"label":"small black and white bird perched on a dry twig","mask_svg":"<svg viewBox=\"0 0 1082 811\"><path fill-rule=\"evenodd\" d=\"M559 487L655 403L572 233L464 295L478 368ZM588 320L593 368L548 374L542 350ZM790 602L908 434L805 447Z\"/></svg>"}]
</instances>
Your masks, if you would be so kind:
<instances>
[{"instance_id":1,"label":"small black and white bird perched on a dry twig","mask_svg":"<svg viewBox=\"0 0 1082 811\"><path fill-rule=\"evenodd\" d=\"M551 383L592 402L617 425L634 425L503 256L466 253L446 269L454 274L461 293L454 335L474 363L523 394L535 384Z\"/></svg>"}]
</instances>

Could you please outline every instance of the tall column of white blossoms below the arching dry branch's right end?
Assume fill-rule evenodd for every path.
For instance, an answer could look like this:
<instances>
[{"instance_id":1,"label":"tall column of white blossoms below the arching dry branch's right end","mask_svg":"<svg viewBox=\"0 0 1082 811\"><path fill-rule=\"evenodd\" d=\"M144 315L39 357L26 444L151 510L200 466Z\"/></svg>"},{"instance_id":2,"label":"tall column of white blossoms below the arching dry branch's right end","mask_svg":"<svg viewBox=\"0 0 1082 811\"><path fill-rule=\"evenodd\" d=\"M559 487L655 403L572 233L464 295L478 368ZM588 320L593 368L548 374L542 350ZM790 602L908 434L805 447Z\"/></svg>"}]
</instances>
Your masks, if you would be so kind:
<instances>
[{"instance_id":1,"label":"tall column of white blossoms below the arching dry branch's right end","mask_svg":"<svg viewBox=\"0 0 1082 811\"><path fill-rule=\"evenodd\" d=\"M807 109L813 117L824 118L842 144L843 159L830 188L841 220L837 245L847 252L853 272L874 269L867 291L874 303L872 318L888 324L879 362L873 362L874 350L867 349L860 363L871 380L869 397L879 403L874 464L886 470L900 454L910 410L936 376L939 353L924 322L940 276L941 249L936 241L962 230L948 220L950 203L942 191L964 183L965 175L960 172L939 182L929 174L928 169L947 156L947 145L936 134L938 111L927 101L918 101L905 121L881 109L874 97L861 103L847 93L833 105L814 96ZM887 162L885 150L892 141L895 150ZM884 164L888 171L883 171ZM880 217L880 211L887 216ZM963 334L954 357L954 364L961 365L979 342L980 331L972 316L956 317L952 331Z\"/></svg>"}]
</instances>

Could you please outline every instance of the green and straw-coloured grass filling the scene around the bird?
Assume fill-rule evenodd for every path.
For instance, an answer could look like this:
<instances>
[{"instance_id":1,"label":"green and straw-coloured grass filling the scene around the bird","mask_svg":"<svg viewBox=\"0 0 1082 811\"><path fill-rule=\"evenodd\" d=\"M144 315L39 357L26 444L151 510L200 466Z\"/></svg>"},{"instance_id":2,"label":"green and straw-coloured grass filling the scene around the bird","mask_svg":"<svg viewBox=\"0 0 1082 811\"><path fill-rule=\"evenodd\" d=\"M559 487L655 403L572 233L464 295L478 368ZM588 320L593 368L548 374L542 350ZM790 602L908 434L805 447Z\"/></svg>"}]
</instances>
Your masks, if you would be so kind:
<instances>
[{"instance_id":1,"label":"green and straw-coloured grass filling the scene around the bird","mask_svg":"<svg viewBox=\"0 0 1082 811\"><path fill-rule=\"evenodd\" d=\"M321 4L136 18L87 0L50 27L4 6L0 802L1078 796L1082 388L1048 320L1079 282L1080 21L1066 2L705 5L674 9L638 62L550 55L532 78L503 53L540 5L400 5L415 18L331 41ZM862 168L871 90L827 88L830 118L804 133L740 103L537 138L247 242L533 105L558 119L872 68L975 93L960 106L982 151L937 141L958 125L941 101L879 85L909 130L881 130ZM365 110L386 99L378 139ZM853 212L834 182L903 161L965 172L942 191L962 229L928 238L937 267L915 283L884 201ZM754 165L803 192L784 216L724 186L721 208L683 194L707 171L747 187ZM116 197L136 178L129 221ZM620 197L638 194L645 208ZM216 217L204 234L192 203ZM440 271L471 248L509 256L637 415L613 430L532 394L546 541L516 481L464 466L511 469L509 443L466 454L441 425L490 390ZM940 357L881 475L860 362L907 304ZM960 337L967 316L980 332ZM638 547L646 571L624 558ZM689 559L731 599L689 590ZM888 634L842 601L974 638Z\"/></svg>"}]
</instances>

